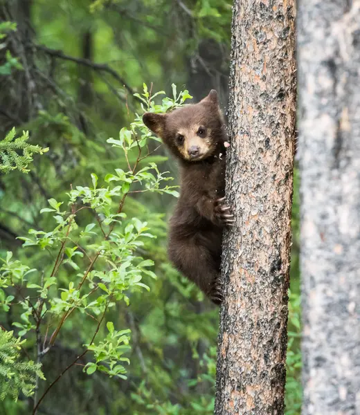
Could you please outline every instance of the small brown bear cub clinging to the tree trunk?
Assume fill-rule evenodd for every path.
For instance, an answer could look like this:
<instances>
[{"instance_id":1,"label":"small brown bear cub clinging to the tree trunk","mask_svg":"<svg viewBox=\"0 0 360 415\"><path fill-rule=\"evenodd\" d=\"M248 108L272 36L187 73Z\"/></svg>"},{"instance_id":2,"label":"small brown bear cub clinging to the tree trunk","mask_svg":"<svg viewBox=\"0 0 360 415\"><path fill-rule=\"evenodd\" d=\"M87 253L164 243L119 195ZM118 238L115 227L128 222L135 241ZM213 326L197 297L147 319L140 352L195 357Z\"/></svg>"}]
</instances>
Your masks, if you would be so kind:
<instances>
[{"instance_id":1,"label":"small brown bear cub clinging to the tree trunk","mask_svg":"<svg viewBox=\"0 0 360 415\"><path fill-rule=\"evenodd\" d=\"M217 92L167 114L145 113L143 122L180 165L180 196L168 238L170 261L220 304L222 230L234 219L224 203L226 131Z\"/></svg>"}]
</instances>

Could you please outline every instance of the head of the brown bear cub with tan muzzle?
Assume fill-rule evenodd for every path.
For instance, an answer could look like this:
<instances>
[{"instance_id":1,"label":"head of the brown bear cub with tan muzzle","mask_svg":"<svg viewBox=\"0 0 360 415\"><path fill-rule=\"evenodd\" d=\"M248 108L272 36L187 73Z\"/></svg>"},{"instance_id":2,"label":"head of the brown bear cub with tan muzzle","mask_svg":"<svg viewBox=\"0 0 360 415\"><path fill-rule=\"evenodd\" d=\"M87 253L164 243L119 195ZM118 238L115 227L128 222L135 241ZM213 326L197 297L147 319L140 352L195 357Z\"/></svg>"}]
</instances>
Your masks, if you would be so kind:
<instances>
[{"instance_id":1,"label":"head of the brown bear cub with tan muzzle","mask_svg":"<svg viewBox=\"0 0 360 415\"><path fill-rule=\"evenodd\" d=\"M224 145L224 120L215 89L197 104L166 114L145 113L143 122L175 156L188 162L205 160Z\"/></svg>"}]
</instances>

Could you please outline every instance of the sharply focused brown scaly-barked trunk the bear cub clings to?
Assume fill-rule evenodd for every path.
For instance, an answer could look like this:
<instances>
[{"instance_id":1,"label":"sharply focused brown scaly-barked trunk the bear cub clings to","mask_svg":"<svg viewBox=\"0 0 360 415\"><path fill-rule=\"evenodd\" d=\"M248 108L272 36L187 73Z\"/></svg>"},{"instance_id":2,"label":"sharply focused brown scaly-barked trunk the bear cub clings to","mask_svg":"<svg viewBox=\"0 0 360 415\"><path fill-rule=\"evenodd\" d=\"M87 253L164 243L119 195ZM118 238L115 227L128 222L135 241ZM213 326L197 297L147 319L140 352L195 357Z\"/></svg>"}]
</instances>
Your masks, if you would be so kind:
<instances>
[{"instance_id":1,"label":"sharply focused brown scaly-barked trunk the bear cub clings to","mask_svg":"<svg viewBox=\"0 0 360 415\"><path fill-rule=\"evenodd\" d=\"M215 414L283 414L295 133L294 0L235 0Z\"/></svg>"}]
</instances>

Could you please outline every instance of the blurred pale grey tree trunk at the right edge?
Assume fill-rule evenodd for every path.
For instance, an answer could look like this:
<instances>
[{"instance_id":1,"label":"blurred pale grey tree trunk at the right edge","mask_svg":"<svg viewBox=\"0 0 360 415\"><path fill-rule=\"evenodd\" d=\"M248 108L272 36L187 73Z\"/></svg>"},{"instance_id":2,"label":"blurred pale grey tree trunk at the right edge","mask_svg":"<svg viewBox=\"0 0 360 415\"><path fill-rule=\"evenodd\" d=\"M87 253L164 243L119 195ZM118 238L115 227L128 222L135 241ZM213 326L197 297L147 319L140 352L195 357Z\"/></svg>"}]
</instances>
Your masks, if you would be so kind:
<instances>
[{"instance_id":1,"label":"blurred pale grey tree trunk at the right edge","mask_svg":"<svg viewBox=\"0 0 360 415\"><path fill-rule=\"evenodd\" d=\"M360 1L299 9L303 414L360 414Z\"/></svg>"}]
</instances>

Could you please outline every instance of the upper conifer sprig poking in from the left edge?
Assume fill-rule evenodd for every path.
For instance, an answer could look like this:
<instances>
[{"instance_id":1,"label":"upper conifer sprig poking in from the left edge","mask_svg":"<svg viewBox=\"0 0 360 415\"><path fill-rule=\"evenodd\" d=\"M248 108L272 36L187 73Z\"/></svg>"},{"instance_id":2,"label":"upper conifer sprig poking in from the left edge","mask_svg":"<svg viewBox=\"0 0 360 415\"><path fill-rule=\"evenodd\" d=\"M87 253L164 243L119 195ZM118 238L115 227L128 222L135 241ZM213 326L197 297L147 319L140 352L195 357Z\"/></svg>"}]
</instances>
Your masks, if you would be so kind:
<instances>
[{"instance_id":1,"label":"upper conifer sprig poking in from the left edge","mask_svg":"<svg viewBox=\"0 0 360 415\"><path fill-rule=\"evenodd\" d=\"M15 138L15 127L0 141L0 173L8 173L18 169L20 172L28 173L28 164L33 161L33 154L44 154L48 148L42 149L39 145L28 143L29 133L23 131L21 137Z\"/></svg>"}]
</instances>

